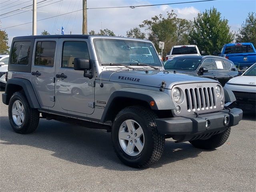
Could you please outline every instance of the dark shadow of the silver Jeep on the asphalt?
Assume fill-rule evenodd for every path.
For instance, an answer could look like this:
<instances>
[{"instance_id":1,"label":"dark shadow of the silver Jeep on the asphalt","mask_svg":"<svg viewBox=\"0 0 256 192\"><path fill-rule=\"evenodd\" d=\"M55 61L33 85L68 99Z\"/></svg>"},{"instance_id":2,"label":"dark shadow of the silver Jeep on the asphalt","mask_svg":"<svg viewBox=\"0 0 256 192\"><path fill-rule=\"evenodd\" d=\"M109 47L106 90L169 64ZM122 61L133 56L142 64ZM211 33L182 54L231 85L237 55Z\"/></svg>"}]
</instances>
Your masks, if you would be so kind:
<instances>
[{"instance_id":1,"label":"dark shadow of the silver Jeep on the asphalt","mask_svg":"<svg viewBox=\"0 0 256 192\"><path fill-rule=\"evenodd\" d=\"M0 117L0 144L26 145L52 151L52 156L86 166L118 171L139 171L120 162L114 153L110 133L58 121L41 119L38 129L31 134L18 134L10 126L8 117ZM151 166L158 168L186 158L195 158L200 152L189 143L166 140L162 158ZM142 169L143 170L143 169Z\"/></svg>"}]
</instances>

